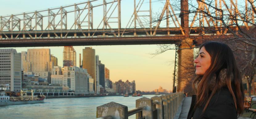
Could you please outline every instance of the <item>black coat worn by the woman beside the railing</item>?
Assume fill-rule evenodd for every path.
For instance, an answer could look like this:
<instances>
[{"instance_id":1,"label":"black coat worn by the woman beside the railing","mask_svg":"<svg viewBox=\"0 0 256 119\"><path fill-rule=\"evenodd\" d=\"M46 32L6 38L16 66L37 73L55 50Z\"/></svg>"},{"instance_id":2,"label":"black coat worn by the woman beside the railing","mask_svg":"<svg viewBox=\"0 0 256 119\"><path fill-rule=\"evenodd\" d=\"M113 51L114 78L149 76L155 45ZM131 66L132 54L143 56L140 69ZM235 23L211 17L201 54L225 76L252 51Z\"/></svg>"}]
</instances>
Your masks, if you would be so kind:
<instances>
[{"instance_id":1,"label":"black coat worn by the woman beside the railing","mask_svg":"<svg viewBox=\"0 0 256 119\"><path fill-rule=\"evenodd\" d=\"M197 108L195 104L196 95L193 95L187 119L237 119L233 97L227 87L213 95L203 114L205 103Z\"/></svg>"}]
</instances>

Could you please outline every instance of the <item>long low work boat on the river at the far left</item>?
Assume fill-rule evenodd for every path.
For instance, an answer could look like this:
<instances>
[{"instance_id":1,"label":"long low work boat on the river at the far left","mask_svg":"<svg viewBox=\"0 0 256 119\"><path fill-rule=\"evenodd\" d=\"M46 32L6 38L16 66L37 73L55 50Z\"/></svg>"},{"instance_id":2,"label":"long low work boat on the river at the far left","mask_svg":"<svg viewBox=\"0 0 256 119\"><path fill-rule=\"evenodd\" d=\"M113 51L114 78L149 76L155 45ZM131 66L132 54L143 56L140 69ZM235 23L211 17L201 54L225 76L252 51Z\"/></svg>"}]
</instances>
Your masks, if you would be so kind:
<instances>
[{"instance_id":1,"label":"long low work boat on the river at the far left","mask_svg":"<svg viewBox=\"0 0 256 119\"><path fill-rule=\"evenodd\" d=\"M27 95L27 91L20 90L20 95L15 97L6 95L6 90L9 90L9 84L6 84L6 88L3 89L5 90L0 92L0 106L44 103L45 96L34 96L33 90L30 91L32 94L31 96Z\"/></svg>"}]
</instances>

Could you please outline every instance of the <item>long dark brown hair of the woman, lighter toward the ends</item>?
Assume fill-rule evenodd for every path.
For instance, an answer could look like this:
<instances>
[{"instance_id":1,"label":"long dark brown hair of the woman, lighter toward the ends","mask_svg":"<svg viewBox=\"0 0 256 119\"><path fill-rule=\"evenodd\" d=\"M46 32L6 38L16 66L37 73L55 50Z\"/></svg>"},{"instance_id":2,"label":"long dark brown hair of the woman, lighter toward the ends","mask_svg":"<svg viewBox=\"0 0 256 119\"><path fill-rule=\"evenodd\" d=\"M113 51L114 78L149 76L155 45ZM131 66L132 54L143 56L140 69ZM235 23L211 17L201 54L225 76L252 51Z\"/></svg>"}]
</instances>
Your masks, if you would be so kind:
<instances>
[{"instance_id":1,"label":"long dark brown hair of the woman, lighter toward the ends","mask_svg":"<svg viewBox=\"0 0 256 119\"><path fill-rule=\"evenodd\" d=\"M211 65L209 69L206 70L202 79L197 86L197 102L196 107L202 106L205 104L203 112L207 108L213 95L221 89L221 81L218 78L218 75L221 69L227 69L226 76L226 85L229 89L229 92L232 94L233 101L237 110L237 113L243 112L243 103L244 103L244 92L242 88L242 79L239 74L236 61L233 55L232 50L228 45L220 42L206 42L200 46L200 49L204 47L205 50L211 56ZM209 89L210 81L213 75L216 75L216 83L212 90ZM198 81L200 76L196 76L193 81L193 87L195 88L195 83ZM231 79L233 78L233 79Z\"/></svg>"}]
</instances>

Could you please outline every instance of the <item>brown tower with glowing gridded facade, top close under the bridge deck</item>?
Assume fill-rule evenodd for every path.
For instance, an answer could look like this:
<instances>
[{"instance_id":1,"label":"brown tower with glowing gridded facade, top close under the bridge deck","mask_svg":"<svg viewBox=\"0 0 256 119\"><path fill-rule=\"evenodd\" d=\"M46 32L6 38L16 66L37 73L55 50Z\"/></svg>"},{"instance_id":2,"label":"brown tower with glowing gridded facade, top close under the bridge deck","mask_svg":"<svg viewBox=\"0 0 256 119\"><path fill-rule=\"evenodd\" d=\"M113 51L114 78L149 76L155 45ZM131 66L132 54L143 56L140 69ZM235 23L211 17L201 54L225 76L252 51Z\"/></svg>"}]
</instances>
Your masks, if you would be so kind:
<instances>
[{"instance_id":1,"label":"brown tower with glowing gridded facade, top close under the bridge deck","mask_svg":"<svg viewBox=\"0 0 256 119\"><path fill-rule=\"evenodd\" d=\"M76 51L73 46L64 46L63 50L63 67L76 66Z\"/></svg>"}]
</instances>

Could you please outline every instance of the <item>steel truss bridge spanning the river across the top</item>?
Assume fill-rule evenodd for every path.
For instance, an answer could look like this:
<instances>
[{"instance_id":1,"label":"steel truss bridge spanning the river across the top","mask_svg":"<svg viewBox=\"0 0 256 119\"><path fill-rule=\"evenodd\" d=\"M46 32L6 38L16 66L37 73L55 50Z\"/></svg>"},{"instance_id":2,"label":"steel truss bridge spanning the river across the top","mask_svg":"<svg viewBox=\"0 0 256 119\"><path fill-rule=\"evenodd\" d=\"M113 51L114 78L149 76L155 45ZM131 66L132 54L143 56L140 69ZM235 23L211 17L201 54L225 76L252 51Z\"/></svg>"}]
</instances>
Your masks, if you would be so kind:
<instances>
[{"instance_id":1,"label":"steel truss bridge spanning the river across the top","mask_svg":"<svg viewBox=\"0 0 256 119\"><path fill-rule=\"evenodd\" d=\"M124 1L133 2L133 7L123 10L121 3ZM175 6L170 0L163 1L165 3L157 20L152 17L151 0L90 0L57 8L0 16L0 47L181 44L180 47L186 48L189 46L186 44L192 45L193 41L200 44L200 41L204 40L233 37L228 29L223 29L221 20L205 17L203 13L189 15L188 0L180 1L179 11L174 9ZM229 2L215 0L215 6L220 9L224 7L225 10L231 10L228 11L231 14L236 13L238 17L242 17L235 9L237 2L226 1ZM198 3L198 10L209 11L209 6L204 2L194 2ZM215 15L222 14L216 12ZM129 21L127 16L131 16ZM124 17L125 20L121 21ZM234 21L228 21L226 24L233 23ZM250 28L246 23L243 23L242 27ZM215 34L207 34L209 29L215 30ZM237 28L231 25L230 29ZM182 59L183 52L188 50L181 50L176 55L180 63L186 62ZM183 70L185 69L179 68L178 73L182 74ZM178 90L181 91L181 88L178 87Z\"/></svg>"}]
</instances>

